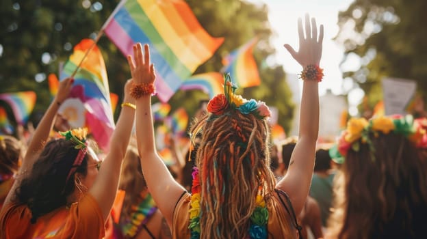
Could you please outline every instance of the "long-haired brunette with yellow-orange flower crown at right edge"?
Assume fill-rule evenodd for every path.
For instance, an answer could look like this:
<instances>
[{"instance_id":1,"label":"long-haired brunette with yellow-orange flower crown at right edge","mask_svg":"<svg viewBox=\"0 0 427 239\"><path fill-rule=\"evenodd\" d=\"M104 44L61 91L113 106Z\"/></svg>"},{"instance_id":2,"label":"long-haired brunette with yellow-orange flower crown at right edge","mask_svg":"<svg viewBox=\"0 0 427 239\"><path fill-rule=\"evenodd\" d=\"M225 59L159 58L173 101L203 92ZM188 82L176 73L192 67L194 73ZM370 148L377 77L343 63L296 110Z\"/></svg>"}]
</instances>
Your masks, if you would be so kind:
<instances>
[{"instance_id":1,"label":"long-haired brunette with yellow-orange flower crown at right edge","mask_svg":"<svg viewBox=\"0 0 427 239\"><path fill-rule=\"evenodd\" d=\"M339 138L331 238L426 238L426 130L413 117L352 118Z\"/></svg>"}]
</instances>

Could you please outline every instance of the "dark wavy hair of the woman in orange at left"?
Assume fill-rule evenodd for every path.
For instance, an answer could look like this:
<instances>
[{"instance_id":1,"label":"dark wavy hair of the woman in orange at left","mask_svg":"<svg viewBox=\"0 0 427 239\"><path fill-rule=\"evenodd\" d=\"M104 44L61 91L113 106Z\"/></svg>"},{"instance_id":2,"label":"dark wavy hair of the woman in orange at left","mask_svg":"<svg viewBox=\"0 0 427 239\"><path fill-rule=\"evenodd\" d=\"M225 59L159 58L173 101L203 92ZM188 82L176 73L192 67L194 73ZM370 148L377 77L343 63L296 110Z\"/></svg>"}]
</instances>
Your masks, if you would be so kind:
<instances>
[{"instance_id":1,"label":"dark wavy hair of the woman in orange at left","mask_svg":"<svg viewBox=\"0 0 427 239\"><path fill-rule=\"evenodd\" d=\"M76 188L75 174L86 176L88 172L86 154L81 165L66 181L78 153L71 141L53 139L44 146L29 173L23 172L21 186L16 189L16 199L31 210L31 223L35 223L39 216L66 206L67 197Z\"/></svg>"}]
</instances>

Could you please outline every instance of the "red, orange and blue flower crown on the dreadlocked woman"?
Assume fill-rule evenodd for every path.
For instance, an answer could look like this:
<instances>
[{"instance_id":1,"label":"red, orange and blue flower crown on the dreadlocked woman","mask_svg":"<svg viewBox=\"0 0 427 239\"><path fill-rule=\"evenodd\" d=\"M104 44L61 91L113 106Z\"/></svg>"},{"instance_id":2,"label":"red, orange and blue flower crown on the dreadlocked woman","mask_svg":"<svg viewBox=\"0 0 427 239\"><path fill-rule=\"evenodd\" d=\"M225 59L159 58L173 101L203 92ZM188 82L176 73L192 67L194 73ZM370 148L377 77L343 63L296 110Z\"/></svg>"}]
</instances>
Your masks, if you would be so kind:
<instances>
[{"instance_id":1,"label":"red, orange and blue flower crown on the dreadlocked woman","mask_svg":"<svg viewBox=\"0 0 427 239\"><path fill-rule=\"evenodd\" d=\"M240 113L252 113L259 119L270 117L271 111L265 102L254 99L246 100L235 94L237 86L231 82L230 74L224 74L224 94L218 94L209 100L207 111L213 115L222 115L227 109L237 109Z\"/></svg>"}]
</instances>

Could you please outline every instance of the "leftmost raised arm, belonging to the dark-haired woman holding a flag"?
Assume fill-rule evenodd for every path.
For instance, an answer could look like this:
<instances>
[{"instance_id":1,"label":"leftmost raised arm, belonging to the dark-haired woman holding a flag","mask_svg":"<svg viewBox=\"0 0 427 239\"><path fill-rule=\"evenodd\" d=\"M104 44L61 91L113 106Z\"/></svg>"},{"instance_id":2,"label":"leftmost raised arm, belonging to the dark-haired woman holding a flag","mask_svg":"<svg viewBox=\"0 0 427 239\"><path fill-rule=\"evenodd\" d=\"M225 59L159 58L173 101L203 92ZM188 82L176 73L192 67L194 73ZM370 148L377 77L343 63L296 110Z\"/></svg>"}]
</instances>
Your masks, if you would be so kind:
<instances>
[{"instance_id":1,"label":"leftmost raised arm, belonging to the dark-haired woman holding a flag","mask_svg":"<svg viewBox=\"0 0 427 239\"><path fill-rule=\"evenodd\" d=\"M36 162L36 159L38 158L38 155L44 148L44 145L46 144L49 134L53 128L53 122L55 122L57 111L60 108L62 102L64 102L64 100L68 98L68 94L70 93L73 83L74 79L70 78L60 82L60 87L55 98L49 105L49 108L47 109L46 113L44 113L42 119L40 120L40 123L34 131L34 135L27 147L27 152L25 153L25 156L23 158L21 168L18 170L18 173L16 175L16 181L14 182L12 188L8 193L8 196L5 199L3 208L6 208L9 203L15 201L14 195L16 188L21 185L23 174L31 170L34 163Z\"/></svg>"}]
</instances>

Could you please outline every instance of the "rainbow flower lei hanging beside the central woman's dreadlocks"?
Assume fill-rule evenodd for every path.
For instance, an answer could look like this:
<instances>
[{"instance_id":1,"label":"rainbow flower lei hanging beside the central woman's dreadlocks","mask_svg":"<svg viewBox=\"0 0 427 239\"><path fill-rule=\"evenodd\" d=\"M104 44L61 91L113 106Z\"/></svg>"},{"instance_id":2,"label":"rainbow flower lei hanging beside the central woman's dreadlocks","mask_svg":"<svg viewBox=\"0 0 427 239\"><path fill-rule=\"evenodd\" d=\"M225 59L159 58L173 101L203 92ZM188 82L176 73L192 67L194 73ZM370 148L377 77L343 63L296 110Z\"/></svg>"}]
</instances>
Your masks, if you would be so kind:
<instances>
[{"instance_id":1,"label":"rainbow flower lei hanging beside the central woman's dreadlocks","mask_svg":"<svg viewBox=\"0 0 427 239\"><path fill-rule=\"evenodd\" d=\"M190 225L188 228L191 231L191 239L200 238L200 181L198 178L198 168L193 168L193 184L192 184L192 198L190 201ZM257 207L250 215L250 227L248 238L250 239L263 239L268 237L267 223L268 223L268 210L266 201L262 195L257 195Z\"/></svg>"}]
</instances>

